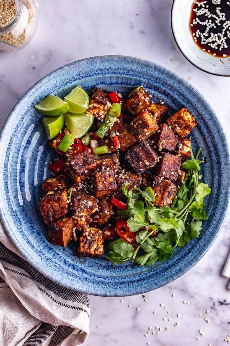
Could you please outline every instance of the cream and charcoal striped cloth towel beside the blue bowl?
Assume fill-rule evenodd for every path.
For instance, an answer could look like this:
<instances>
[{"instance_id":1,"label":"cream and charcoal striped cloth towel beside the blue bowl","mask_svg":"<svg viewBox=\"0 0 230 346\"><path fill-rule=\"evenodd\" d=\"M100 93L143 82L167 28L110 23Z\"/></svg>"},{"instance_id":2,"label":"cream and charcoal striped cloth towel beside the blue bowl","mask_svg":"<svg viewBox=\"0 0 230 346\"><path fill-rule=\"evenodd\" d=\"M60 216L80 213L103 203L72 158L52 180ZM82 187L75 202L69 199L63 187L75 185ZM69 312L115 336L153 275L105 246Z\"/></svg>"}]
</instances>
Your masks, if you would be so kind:
<instances>
[{"instance_id":1,"label":"cream and charcoal striped cloth towel beside the blue bowl","mask_svg":"<svg viewBox=\"0 0 230 346\"><path fill-rule=\"evenodd\" d=\"M0 345L80 345L89 333L89 317L88 296L34 269L0 222Z\"/></svg>"}]
</instances>

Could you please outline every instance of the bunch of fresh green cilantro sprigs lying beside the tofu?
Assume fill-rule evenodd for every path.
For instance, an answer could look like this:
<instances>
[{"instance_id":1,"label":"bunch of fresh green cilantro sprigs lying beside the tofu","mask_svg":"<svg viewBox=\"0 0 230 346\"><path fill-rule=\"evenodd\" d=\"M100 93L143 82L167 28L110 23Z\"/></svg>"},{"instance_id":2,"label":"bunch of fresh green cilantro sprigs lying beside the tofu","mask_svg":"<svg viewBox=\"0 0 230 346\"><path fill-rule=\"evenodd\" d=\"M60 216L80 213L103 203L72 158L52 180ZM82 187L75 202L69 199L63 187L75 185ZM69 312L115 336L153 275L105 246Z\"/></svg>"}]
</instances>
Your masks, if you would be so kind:
<instances>
[{"instance_id":1,"label":"bunch of fresh green cilantro sprigs lying beside the tofu","mask_svg":"<svg viewBox=\"0 0 230 346\"><path fill-rule=\"evenodd\" d=\"M154 206L155 195L150 187L128 191L123 184L128 208L121 210L120 216L127 220L130 231L136 232L136 243L133 247L123 239L114 240L109 244L108 260L114 264L132 260L150 266L170 258L174 248L200 235L202 222L207 219L204 198L211 192L207 184L200 182L200 152L201 148L194 157L191 148L191 160L182 163L187 176L170 207Z\"/></svg>"}]
</instances>

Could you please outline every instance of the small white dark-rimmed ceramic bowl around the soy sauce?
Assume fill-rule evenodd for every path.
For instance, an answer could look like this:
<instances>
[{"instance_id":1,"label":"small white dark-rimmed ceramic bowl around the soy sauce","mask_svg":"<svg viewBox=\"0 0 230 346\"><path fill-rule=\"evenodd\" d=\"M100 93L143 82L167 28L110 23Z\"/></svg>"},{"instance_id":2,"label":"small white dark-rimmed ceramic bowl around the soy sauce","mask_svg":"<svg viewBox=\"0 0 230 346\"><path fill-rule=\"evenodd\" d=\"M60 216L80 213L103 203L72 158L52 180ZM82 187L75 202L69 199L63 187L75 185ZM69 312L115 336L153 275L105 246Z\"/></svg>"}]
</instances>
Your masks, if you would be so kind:
<instances>
[{"instance_id":1,"label":"small white dark-rimmed ceramic bowl around the soy sauce","mask_svg":"<svg viewBox=\"0 0 230 346\"><path fill-rule=\"evenodd\" d=\"M220 58L203 52L194 42L189 29L193 0L174 0L171 11L171 26L174 39L181 53L198 69L219 76L230 76L229 57Z\"/></svg>"}]
</instances>

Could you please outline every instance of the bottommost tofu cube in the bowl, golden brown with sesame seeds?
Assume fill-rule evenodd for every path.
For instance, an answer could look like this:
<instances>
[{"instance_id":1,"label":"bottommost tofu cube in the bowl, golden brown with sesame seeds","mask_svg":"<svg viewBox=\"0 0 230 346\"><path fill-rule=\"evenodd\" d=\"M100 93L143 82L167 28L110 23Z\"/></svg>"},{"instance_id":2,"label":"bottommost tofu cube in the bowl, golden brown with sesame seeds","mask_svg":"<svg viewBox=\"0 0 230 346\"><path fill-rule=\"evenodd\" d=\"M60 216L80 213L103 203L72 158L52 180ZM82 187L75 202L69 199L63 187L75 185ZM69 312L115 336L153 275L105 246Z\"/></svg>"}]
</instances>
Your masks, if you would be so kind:
<instances>
[{"instance_id":1,"label":"bottommost tofu cube in the bowl, golden brown with sesame seeds","mask_svg":"<svg viewBox=\"0 0 230 346\"><path fill-rule=\"evenodd\" d=\"M77 255L79 257L100 257L103 255L102 230L86 227L81 231Z\"/></svg>"}]
</instances>

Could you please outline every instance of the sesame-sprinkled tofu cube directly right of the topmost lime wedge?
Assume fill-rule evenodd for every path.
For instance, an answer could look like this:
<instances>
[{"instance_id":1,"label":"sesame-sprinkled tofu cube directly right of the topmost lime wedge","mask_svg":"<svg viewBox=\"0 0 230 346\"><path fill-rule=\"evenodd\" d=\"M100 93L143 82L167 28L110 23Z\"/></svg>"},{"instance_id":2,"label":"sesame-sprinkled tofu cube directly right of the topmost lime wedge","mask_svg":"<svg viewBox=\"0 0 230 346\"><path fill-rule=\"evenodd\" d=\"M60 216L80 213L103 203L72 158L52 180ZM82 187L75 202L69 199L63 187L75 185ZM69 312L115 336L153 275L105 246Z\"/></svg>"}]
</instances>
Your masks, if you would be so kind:
<instances>
[{"instance_id":1,"label":"sesame-sprinkled tofu cube directly right of the topmost lime wedge","mask_svg":"<svg viewBox=\"0 0 230 346\"><path fill-rule=\"evenodd\" d=\"M110 108L111 103L107 94L100 89L95 89L86 113L93 115L94 118L104 119Z\"/></svg>"}]
</instances>

